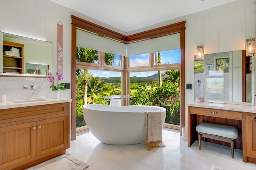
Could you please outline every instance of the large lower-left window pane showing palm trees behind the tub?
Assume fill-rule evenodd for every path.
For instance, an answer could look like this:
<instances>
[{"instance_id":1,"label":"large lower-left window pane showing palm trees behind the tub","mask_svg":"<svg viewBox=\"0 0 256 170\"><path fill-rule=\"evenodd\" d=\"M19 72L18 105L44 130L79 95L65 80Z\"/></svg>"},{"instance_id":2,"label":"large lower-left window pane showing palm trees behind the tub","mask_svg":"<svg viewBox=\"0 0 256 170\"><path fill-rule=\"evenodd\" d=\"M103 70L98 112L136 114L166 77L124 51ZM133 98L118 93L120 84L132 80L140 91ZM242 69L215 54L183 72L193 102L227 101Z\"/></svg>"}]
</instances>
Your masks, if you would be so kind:
<instances>
[{"instance_id":1,"label":"large lower-left window pane showing palm trees behind the tub","mask_svg":"<svg viewBox=\"0 0 256 170\"><path fill-rule=\"evenodd\" d=\"M109 105L104 96L121 95L121 72L77 69L76 75L76 127L82 127L84 104Z\"/></svg>"}]
</instances>

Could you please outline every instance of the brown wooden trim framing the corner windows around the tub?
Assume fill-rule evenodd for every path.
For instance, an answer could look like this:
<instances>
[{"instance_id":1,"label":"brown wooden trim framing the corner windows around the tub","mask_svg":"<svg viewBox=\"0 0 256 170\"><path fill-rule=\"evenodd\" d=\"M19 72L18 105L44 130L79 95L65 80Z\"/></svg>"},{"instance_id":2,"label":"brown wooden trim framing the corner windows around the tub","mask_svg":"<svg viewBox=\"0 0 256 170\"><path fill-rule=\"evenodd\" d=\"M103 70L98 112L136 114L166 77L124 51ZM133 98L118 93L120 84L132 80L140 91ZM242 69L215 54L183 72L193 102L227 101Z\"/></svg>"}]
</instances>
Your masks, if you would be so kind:
<instances>
[{"instance_id":1,"label":"brown wooden trim framing the corner windows around the tub","mask_svg":"<svg viewBox=\"0 0 256 170\"><path fill-rule=\"evenodd\" d=\"M156 29L151 29L148 31L143 31L141 33L136 33L133 35L122 35L100 25L91 23L89 21L83 20L76 16L71 16L71 140L76 139L76 29L81 28L86 31L90 31L92 33L96 33L97 35L107 37L110 39L114 39L116 41L120 41L122 43L132 43L136 41L141 41L144 39L156 38L164 35L169 35L172 33L180 33L180 131L181 127L185 125L185 23L186 21L181 21L178 23L166 25L164 27L159 27ZM124 62L124 64L127 64ZM87 67L87 66L86 66ZM107 67L104 67L107 68ZM160 67L159 67L160 68ZM158 68L158 69L159 69ZM94 68L95 69L95 68ZM165 68L166 69L166 68ZM118 69L114 69L118 70ZM129 72L126 70L126 66L124 65L124 80L122 83L125 85L122 86L123 92L125 94L129 94ZM124 95L122 93L122 95ZM180 134L181 135L181 134Z\"/></svg>"}]
</instances>

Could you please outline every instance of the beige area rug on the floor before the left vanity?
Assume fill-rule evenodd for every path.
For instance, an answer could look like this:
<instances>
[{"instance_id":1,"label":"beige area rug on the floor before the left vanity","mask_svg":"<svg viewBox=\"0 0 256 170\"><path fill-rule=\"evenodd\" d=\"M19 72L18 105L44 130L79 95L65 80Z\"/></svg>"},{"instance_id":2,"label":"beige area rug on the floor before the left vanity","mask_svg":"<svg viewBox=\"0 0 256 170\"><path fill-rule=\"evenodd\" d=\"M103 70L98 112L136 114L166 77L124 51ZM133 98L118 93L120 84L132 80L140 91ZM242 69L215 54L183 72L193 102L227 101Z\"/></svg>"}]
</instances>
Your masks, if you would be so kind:
<instances>
[{"instance_id":1,"label":"beige area rug on the floor before the left vanity","mask_svg":"<svg viewBox=\"0 0 256 170\"><path fill-rule=\"evenodd\" d=\"M84 170L89 165L71 154L63 154L26 170Z\"/></svg>"}]
</instances>

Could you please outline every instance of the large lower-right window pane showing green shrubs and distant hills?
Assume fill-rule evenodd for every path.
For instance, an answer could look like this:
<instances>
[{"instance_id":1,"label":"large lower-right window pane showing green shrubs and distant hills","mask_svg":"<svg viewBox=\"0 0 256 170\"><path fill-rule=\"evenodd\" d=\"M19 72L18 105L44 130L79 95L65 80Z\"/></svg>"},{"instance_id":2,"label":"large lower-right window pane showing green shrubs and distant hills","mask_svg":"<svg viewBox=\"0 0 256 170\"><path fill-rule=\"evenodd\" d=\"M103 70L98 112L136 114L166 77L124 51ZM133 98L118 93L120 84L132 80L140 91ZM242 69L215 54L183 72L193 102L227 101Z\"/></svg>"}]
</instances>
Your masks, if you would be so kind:
<instances>
[{"instance_id":1,"label":"large lower-right window pane showing green shrubs and distant hills","mask_svg":"<svg viewBox=\"0 0 256 170\"><path fill-rule=\"evenodd\" d=\"M130 105L164 107L165 123L180 125L180 70L130 72Z\"/></svg>"}]
</instances>

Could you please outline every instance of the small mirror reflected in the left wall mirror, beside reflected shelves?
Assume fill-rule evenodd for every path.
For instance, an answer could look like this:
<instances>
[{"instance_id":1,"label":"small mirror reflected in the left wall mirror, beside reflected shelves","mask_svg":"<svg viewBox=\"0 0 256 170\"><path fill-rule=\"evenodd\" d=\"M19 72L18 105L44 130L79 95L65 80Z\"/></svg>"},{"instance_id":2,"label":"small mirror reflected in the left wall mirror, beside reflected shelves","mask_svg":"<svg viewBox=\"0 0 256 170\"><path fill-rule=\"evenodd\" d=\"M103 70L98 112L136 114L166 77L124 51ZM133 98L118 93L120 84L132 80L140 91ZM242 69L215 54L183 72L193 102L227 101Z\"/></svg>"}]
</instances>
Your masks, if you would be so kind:
<instances>
[{"instance_id":1,"label":"small mirror reflected in the left wall mirror, beside reflected shelves","mask_svg":"<svg viewBox=\"0 0 256 170\"><path fill-rule=\"evenodd\" d=\"M26 74L42 74L47 75L49 65L26 63Z\"/></svg>"}]
</instances>

